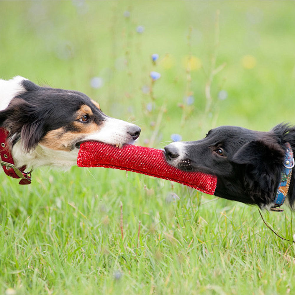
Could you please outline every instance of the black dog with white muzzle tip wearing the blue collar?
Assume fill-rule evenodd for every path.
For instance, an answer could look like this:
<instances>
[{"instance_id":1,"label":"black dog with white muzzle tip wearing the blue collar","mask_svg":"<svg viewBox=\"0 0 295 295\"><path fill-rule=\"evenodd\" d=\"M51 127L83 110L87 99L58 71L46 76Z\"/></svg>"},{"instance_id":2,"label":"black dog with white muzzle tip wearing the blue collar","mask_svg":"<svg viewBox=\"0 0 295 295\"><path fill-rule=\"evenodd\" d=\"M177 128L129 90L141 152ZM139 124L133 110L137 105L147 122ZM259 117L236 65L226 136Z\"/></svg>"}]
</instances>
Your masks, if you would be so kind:
<instances>
[{"instance_id":1,"label":"black dog with white muzzle tip wearing the blue collar","mask_svg":"<svg viewBox=\"0 0 295 295\"><path fill-rule=\"evenodd\" d=\"M279 124L270 132L221 126L210 130L204 139L167 145L165 156L169 164L181 170L216 175L216 196L272 209L279 207L276 194L281 191L294 209L293 155L286 160L286 153L293 149L295 127L287 124ZM286 186L281 186L284 181Z\"/></svg>"}]
</instances>

